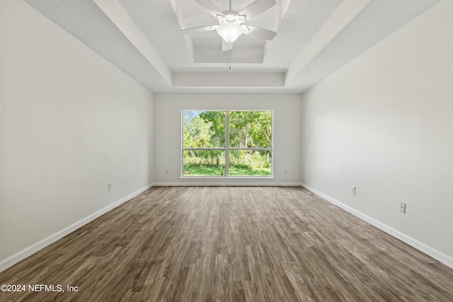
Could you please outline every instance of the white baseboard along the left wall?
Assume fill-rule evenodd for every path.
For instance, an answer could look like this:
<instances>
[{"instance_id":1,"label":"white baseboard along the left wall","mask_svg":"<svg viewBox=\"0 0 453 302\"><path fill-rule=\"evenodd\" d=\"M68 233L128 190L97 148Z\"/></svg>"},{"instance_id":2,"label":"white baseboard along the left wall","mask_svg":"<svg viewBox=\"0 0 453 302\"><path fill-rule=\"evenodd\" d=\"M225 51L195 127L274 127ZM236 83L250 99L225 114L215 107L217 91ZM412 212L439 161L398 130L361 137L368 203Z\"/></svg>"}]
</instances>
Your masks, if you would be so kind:
<instances>
[{"instance_id":1,"label":"white baseboard along the left wall","mask_svg":"<svg viewBox=\"0 0 453 302\"><path fill-rule=\"evenodd\" d=\"M26 257L33 255L35 252L38 252L38 250L42 250L42 248L45 248L47 245L54 243L55 241L59 240L60 238L67 236L69 233L76 231L77 228L84 226L86 223L93 221L94 219L98 218L99 216L102 216L103 214L107 213L108 211L114 209L115 207L118 207L121 204L124 204L128 200L136 197L138 194L148 190L150 187L153 187L153 185L151 184L151 185L142 187L142 189L137 190L136 192L133 192L132 194L127 195L126 197L118 200L117 202L113 202L113 204L110 204L107 207L100 209L99 211L96 211L96 213L86 216L84 219L81 219L79 221L76 221L75 223L72 223L70 226L63 228L61 231L58 231L57 233L54 233L54 234L48 236L47 238L44 238L44 239L38 241L37 243L30 245L28 248L24 248L23 250L16 252L16 254L11 255L10 257L7 257L4 260L1 260L0 261L0 272L4 271L8 267L15 265L19 261L24 260Z\"/></svg>"}]
</instances>

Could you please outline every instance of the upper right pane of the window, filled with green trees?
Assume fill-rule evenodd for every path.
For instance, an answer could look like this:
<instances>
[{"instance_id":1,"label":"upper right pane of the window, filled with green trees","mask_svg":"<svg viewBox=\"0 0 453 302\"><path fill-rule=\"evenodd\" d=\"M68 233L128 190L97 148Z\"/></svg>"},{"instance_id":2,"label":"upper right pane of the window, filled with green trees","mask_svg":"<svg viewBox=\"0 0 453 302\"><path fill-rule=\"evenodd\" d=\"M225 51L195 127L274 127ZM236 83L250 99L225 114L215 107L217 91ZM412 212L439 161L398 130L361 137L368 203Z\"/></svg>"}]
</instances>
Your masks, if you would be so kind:
<instances>
[{"instance_id":1,"label":"upper right pane of the window, filled with green trees","mask_svg":"<svg viewBox=\"0 0 453 302\"><path fill-rule=\"evenodd\" d=\"M271 148L271 139L271 111L231 111L229 113L230 148Z\"/></svg>"}]
</instances>

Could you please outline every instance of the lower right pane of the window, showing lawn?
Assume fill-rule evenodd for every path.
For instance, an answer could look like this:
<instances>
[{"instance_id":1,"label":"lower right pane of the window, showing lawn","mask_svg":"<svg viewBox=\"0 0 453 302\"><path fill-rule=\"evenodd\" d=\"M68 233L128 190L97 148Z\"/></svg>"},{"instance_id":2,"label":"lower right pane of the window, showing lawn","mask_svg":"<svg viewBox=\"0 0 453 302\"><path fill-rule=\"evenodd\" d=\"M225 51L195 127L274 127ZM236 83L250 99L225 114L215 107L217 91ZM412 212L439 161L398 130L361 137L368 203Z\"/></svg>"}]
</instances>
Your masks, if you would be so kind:
<instances>
[{"instance_id":1,"label":"lower right pane of the window, showing lawn","mask_svg":"<svg viewBox=\"0 0 453 302\"><path fill-rule=\"evenodd\" d=\"M229 153L231 176L270 176L271 171L272 151L231 150Z\"/></svg>"}]
</instances>

